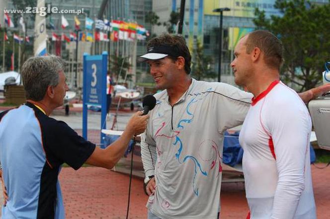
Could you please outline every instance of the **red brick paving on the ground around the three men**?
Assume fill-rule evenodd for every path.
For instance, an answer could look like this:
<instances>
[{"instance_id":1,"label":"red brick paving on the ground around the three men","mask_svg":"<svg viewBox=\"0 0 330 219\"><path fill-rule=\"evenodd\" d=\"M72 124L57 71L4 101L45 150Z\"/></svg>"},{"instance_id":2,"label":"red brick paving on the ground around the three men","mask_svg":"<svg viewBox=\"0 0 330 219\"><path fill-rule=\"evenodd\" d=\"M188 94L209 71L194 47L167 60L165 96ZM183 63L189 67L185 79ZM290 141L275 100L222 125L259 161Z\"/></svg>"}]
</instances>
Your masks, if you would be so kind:
<instances>
[{"instance_id":1,"label":"red brick paving on the ground around the three men","mask_svg":"<svg viewBox=\"0 0 330 219\"><path fill-rule=\"evenodd\" d=\"M318 164L324 165L324 164ZM330 167L312 165L318 219L330 218ZM99 167L78 171L63 168L60 174L67 219L125 219L129 176ZM130 219L147 218L147 196L143 180L132 180ZM221 219L245 219L248 205L243 183L224 183L221 191Z\"/></svg>"}]
</instances>

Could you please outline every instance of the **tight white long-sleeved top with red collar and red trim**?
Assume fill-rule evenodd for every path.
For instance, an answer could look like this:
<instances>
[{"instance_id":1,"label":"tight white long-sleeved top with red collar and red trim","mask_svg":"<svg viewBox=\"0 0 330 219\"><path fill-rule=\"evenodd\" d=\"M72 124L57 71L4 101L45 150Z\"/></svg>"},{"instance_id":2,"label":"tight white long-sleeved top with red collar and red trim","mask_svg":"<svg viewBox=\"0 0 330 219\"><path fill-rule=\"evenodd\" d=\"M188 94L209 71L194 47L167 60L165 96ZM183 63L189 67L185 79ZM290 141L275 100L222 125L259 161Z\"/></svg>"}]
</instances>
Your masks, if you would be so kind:
<instances>
[{"instance_id":1,"label":"tight white long-sleeved top with red collar and red trim","mask_svg":"<svg viewBox=\"0 0 330 219\"><path fill-rule=\"evenodd\" d=\"M311 127L306 106L282 82L252 99L239 138L251 219L316 219Z\"/></svg>"}]
</instances>

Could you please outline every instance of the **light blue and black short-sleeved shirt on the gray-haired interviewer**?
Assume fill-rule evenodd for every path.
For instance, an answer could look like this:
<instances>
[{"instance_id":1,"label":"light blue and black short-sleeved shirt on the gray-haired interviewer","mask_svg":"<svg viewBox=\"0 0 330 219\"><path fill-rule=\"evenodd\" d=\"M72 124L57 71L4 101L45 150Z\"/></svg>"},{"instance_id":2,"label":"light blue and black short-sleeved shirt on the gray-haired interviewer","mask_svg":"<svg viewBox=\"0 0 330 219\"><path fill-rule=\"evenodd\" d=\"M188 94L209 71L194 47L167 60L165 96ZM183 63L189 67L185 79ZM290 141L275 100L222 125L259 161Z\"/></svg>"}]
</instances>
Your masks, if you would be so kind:
<instances>
[{"instance_id":1,"label":"light blue and black short-sleeved shirt on the gray-haired interviewer","mask_svg":"<svg viewBox=\"0 0 330 219\"><path fill-rule=\"evenodd\" d=\"M80 168L95 145L27 102L0 113L0 163L8 202L2 218L65 218L58 174Z\"/></svg>"}]
</instances>

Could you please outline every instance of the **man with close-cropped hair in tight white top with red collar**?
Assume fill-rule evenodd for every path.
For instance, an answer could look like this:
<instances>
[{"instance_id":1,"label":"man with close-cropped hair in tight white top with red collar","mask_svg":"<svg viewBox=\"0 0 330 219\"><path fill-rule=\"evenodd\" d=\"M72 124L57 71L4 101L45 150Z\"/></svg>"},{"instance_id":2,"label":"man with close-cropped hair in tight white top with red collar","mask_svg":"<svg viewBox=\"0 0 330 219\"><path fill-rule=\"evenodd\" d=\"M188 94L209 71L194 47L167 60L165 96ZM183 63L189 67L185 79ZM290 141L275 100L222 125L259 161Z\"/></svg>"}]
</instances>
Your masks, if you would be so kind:
<instances>
[{"instance_id":1,"label":"man with close-cropped hair in tight white top with red collar","mask_svg":"<svg viewBox=\"0 0 330 219\"><path fill-rule=\"evenodd\" d=\"M297 93L279 80L282 43L257 30L239 41L234 55L235 83L253 94L239 138L249 217L316 219L312 121Z\"/></svg>"}]
</instances>

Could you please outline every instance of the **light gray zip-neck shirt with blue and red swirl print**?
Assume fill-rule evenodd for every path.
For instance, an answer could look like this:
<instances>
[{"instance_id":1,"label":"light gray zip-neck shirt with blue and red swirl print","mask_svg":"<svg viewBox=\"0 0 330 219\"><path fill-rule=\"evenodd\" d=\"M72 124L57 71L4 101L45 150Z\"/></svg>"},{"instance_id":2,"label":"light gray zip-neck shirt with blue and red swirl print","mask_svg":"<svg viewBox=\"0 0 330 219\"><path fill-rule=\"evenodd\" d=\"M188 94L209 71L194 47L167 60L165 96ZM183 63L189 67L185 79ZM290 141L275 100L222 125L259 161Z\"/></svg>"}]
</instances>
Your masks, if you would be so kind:
<instances>
[{"instance_id":1,"label":"light gray zip-neck shirt with blue and red swirl print","mask_svg":"<svg viewBox=\"0 0 330 219\"><path fill-rule=\"evenodd\" d=\"M155 175L148 208L162 219L215 219L220 206L223 133L242 124L252 95L224 83L196 81L170 106L155 95L141 139L146 176Z\"/></svg>"}]
</instances>

